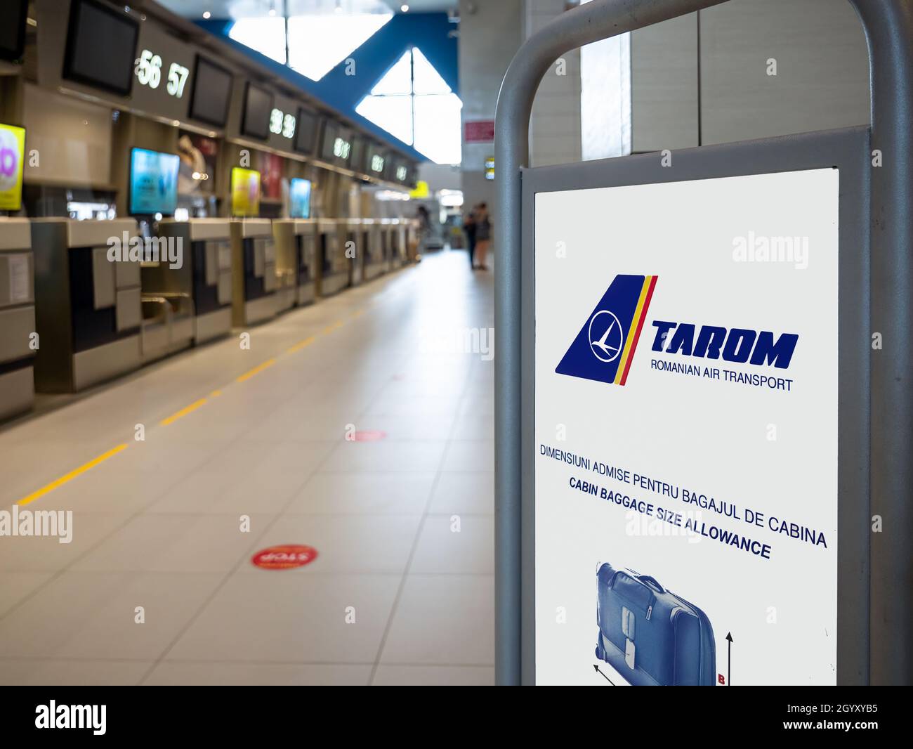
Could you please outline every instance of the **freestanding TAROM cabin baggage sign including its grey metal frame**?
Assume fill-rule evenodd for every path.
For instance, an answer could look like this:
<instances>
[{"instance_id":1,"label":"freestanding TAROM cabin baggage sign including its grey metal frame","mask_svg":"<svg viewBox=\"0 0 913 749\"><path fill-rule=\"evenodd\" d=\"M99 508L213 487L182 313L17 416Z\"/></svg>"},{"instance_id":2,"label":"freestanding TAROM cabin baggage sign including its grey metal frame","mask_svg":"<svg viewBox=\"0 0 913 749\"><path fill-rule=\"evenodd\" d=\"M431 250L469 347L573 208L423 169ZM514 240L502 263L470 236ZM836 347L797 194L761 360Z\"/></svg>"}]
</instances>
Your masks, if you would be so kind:
<instances>
[{"instance_id":1,"label":"freestanding TAROM cabin baggage sign including its grey metal frame","mask_svg":"<svg viewBox=\"0 0 913 749\"><path fill-rule=\"evenodd\" d=\"M907 604L876 575L908 579L877 533L885 512L906 527L911 497L876 501L874 476L876 446L909 435L876 412L870 357L875 324L909 322L875 284L908 252L887 226L906 236L910 191L885 191L877 129L521 168L553 58L708 5L582 6L501 90L500 683L909 679ZM877 79L885 4L855 5ZM890 23L909 57L909 19ZM877 90L876 124L908 111ZM881 142L908 146L894 124Z\"/></svg>"}]
</instances>

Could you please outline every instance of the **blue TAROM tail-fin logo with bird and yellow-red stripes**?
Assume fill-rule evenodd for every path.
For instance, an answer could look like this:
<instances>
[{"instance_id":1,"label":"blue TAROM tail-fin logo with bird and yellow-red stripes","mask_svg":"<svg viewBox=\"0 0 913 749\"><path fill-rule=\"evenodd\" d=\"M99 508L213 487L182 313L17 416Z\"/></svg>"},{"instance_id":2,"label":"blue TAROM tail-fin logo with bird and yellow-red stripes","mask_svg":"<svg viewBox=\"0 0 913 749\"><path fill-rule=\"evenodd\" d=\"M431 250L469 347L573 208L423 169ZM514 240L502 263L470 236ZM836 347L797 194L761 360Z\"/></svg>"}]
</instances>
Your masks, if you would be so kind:
<instances>
[{"instance_id":1,"label":"blue TAROM tail-fin logo with bird and yellow-red stripes","mask_svg":"<svg viewBox=\"0 0 913 749\"><path fill-rule=\"evenodd\" d=\"M555 372L624 385L657 278L615 276Z\"/></svg>"}]
</instances>

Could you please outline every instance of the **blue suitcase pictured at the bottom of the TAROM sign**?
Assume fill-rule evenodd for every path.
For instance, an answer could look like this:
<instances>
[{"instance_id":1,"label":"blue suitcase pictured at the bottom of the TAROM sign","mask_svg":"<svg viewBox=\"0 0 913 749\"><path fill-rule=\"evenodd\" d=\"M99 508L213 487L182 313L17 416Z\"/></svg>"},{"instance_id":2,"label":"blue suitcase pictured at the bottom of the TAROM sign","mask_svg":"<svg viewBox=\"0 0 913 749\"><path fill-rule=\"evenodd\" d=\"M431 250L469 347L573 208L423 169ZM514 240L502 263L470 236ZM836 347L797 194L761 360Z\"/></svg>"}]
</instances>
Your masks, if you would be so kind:
<instances>
[{"instance_id":1,"label":"blue suitcase pictured at the bottom of the TAROM sign","mask_svg":"<svg viewBox=\"0 0 913 749\"><path fill-rule=\"evenodd\" d=\"M600 564L596 657L635 686L714 686L717 646L707 615L655 577Z\"/></svg>"}]
</instances>

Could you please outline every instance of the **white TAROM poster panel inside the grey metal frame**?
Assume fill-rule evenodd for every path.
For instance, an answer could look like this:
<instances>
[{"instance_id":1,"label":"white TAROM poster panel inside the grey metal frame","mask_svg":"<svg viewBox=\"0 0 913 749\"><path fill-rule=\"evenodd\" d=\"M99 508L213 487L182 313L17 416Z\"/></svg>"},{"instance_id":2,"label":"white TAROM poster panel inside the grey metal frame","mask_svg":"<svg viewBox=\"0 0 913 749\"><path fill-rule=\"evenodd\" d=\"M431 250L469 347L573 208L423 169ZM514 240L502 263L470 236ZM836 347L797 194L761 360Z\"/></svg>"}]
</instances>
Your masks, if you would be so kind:
<instances>
[{"instance_id":1,"label":"white TAROM poster panel inside the grey metal frame","mask_svg":"<svg viewBox=\"0 0 913 749\"><path fill-rule=\"evenodd\" d=\"M835 683L838 183L536 195L537 683Z\"/></svg>"}]
</instances>

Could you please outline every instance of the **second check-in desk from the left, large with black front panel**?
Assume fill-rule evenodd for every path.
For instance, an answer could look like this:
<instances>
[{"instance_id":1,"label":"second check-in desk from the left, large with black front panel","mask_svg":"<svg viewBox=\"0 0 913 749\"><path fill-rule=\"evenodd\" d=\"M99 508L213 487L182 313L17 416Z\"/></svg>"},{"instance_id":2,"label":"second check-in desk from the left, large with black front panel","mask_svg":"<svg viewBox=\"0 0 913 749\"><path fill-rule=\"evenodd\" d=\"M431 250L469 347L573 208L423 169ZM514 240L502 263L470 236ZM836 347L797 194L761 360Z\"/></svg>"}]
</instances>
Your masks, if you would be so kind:
<instances>
[{"instance_id":1,"label":"second check-in desk from the left, large with black front panel","mask_svg":"<svg viewBox=\"0 0 913 749\"><path fill-rule=\"evenodd\" d=\"M136 222L35 218L31 226L35 389L72 393L138 367L140 263L122 254Z\"/></svg>"}]
</instances>

